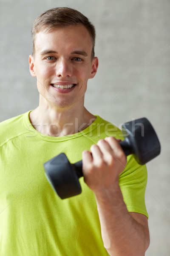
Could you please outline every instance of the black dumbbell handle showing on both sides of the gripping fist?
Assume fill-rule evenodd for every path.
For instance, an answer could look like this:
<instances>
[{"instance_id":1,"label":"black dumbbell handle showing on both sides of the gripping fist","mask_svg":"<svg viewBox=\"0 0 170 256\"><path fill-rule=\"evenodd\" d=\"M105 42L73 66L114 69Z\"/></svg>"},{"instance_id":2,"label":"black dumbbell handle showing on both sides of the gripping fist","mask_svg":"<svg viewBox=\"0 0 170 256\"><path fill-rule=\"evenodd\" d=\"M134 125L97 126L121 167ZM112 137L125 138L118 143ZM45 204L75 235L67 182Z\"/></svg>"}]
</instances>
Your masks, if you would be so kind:
<instances>
[{"instance_id":1,"label":"black dumbbell handle showing on both sides of the gripping fist","mask_svg":"<svg viewBox=\"0 0 170 256\"><path fill-rule=\"evenodd\" d=\"M128 156L129 154L133 154L133 149L130 147L129 145L129 141L126 140L123 140L120 142L120 145L125 153L126 156ZM75 170L75 172L77 173L77 176L78 178L82 177L83 176L83 173L82 173L82 160L80 160L79 162L77 163L74 163L74 164L71 164Z\"/></svg>"}]
</instances>

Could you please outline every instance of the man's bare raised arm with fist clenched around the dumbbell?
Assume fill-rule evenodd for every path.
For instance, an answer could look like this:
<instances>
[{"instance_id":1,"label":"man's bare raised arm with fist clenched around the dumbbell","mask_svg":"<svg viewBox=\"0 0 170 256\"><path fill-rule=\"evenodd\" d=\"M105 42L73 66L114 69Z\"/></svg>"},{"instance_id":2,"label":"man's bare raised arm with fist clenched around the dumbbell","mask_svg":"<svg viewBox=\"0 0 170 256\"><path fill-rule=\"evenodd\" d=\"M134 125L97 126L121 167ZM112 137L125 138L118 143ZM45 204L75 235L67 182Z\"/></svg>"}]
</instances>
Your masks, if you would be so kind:
<instances>
[{"instance_id":1,"label":"man's bare raised arm with fist clenched around the dumbbell","mask_svg":"<svg viewBox=\"0 0 170 256\"><path fill-rule=\"evenodd\" d=\"M144 256L149 246L147 217L128 212L119 187L126 156L119 142L99 140L83 152L85 182L93 190L104 246L111 256Z\"/></svg>"}]
</instances>

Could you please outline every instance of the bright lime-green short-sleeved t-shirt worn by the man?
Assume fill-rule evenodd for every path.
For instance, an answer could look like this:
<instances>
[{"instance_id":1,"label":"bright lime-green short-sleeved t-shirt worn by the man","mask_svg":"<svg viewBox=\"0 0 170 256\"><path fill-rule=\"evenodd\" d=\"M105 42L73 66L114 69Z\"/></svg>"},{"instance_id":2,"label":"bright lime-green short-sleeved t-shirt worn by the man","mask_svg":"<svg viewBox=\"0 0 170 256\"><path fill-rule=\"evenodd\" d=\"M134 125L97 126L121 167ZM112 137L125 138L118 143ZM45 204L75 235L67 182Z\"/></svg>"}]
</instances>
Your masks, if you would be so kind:
<instances>
[{"instance_id":1,"label":"bright lime-green short-sleeved t-shirt worn by the man","mask_svg":"<svg viewBox=\"0 0 170 256\"><path fill-rule=\"evenodd\" d=\"M71 163L101 138L122 139L121 131L96 116L85 130L65 137L37 132L29 112L0 123L0 255L106 256L93 192L81 177L82 193L60 199L45 177L43 163L64 152ZM130 212L147 216L146 166L132 156L119 177Z\"/></svg>"}]
</instances>

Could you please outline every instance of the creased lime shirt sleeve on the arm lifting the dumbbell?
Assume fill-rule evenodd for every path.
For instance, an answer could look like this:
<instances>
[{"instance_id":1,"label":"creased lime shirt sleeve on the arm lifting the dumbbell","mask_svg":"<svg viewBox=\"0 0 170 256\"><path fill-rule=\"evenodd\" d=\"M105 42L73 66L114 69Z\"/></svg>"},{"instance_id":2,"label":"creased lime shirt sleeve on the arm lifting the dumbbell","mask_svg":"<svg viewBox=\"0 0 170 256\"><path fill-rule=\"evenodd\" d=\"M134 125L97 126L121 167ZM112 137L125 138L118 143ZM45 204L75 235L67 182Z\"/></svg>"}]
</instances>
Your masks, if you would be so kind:
<instances>
[{"instance_id":1,"label":"creased lime shirt sleeve on the arm lifting the dumbbell","mask_svg":"<svg viewBox=\"0 0 170 256\"><path fill-rule=\"evenodd\" d=\"M145 190L147 168L136 163L133 155L127 157L127 165L119 176L119 186L128 212L139 212L147 216Z\"/></svg>"}]
</instances>

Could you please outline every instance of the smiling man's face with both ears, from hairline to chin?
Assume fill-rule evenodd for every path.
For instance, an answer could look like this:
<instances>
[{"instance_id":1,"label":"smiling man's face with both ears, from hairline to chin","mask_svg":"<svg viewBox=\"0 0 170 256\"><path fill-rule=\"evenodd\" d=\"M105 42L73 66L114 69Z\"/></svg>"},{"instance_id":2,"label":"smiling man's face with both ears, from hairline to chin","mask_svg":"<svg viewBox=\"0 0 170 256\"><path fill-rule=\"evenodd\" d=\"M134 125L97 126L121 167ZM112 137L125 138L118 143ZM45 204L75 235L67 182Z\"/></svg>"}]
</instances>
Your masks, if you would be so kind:
<instances>
[{"instance_id":1,"label":"smiling man's face with both ears, from hairline to chin","mask_svg":"<svg viewBox=\"0 0 170 256\"><path fill-rule=\"evenodd\" d=\"M98 59L91 59L92 40L82 25L66 26L35 36L30 72L37 77L40 99L59 108L84 103L88 79L95 76Z\"/></svg>"}]
</instances>

